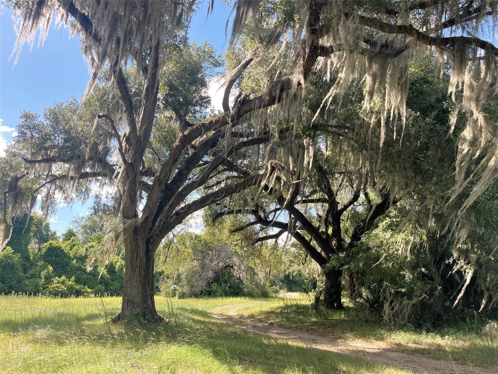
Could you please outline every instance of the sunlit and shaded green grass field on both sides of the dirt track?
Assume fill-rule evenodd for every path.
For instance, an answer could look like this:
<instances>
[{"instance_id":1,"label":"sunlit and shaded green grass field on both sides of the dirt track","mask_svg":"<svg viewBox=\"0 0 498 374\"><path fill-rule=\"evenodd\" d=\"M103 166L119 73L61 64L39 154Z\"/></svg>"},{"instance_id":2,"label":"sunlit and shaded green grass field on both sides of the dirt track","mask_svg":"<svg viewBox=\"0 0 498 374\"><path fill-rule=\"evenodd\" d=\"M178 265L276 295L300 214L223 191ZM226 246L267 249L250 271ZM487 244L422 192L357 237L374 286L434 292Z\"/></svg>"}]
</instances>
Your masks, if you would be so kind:
<instances>
[{"instance_id":1,"label":"sunlit and shaded green grass field on both sides of the dirt track","mask_svg":"<svg viewBox=\"0 0 498 374\"><path fill-rule=\"evenodd\" d=\"M170 321L147 329L110 323L120 303L118 297L0 296L0 373L410 373L250 333L213 313L383 340L403 351L483 367L498 364L496 339L458 330L390 331L352 311L314 318L306 316L304 299L157 297L159 313Z\"/></svg>"}]
</instances>

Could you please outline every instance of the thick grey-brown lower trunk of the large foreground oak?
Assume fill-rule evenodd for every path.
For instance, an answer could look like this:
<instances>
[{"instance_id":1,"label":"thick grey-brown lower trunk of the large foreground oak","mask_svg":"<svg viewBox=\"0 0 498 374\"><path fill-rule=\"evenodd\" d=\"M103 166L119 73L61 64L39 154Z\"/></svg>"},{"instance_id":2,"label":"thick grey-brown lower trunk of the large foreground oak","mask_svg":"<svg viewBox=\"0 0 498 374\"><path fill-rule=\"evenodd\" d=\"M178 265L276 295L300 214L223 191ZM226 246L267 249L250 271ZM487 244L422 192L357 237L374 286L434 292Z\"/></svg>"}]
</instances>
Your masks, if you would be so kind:
<instances>
[{"instance_id":1,"label":"thick grey-brown lower trunk of the large foreground oak","mask_svg":"<svg viewBox=\"0 0 498 374\"><path fill-rule=\"evenodd\" d=\"M128 231L128 230L126 230ZM154 303L154 256L138 230L124 234L124 288L121 312L114 322L137 320L154 324L163 320Z\"/></svg>"}]
</instances>

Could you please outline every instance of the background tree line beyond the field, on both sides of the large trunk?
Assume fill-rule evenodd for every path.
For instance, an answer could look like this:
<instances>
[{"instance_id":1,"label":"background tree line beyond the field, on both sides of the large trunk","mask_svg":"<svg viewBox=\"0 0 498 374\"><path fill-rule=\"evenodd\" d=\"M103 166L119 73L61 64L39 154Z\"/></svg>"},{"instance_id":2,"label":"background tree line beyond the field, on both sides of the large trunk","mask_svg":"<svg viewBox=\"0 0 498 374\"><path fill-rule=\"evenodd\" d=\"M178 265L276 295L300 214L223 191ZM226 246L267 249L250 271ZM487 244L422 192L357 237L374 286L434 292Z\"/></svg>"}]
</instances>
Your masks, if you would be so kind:
<instances>
[{"instance_id":1,"label":"background tree line beyond the field, on both sides of the large trunk","mask_svg":"<svg viewBox=\"0 0 498 374\"><path fill-rule=\"evenodd\" d=\"M105 234L101 217L76 218L60 236L49 223L43 225L43 216L32 213L26 218L15 221L0 253L0 293L122 295L123 249L105 263L96 257ZM177 298L267 297L280 290L301 291L315 277L299 264L296 248L285 251L278 243L253 246L248 240L219 226L208 226L204 233L178 233L158 253L155 293Z\"/></svg>"}]
</instances>

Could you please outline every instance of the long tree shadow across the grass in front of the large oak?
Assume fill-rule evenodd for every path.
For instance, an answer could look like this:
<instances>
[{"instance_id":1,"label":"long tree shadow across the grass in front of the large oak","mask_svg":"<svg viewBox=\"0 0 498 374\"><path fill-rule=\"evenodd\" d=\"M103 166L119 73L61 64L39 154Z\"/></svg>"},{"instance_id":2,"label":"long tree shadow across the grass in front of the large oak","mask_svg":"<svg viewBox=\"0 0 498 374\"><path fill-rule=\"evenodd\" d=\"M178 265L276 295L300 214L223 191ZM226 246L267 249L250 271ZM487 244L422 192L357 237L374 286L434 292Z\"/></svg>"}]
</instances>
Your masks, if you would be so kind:
<instances>
[{"instance_id":1,"label":"long tree shadow across the grass in front of the large oak","mask_svg":"<svg viewBox=\"0 0 498 374\"><path fill-rule=\"evenodd\" d=\"M23 331L25 338L38 344L69 346L78 343L93 345L99 351L117 348L145 354L169 345L180 349L190 347L199 357L215 359L232 373L382 373L385 369L382 364L362 358L331 354L250 333L222 323L201 309L178 307L173 315L166 315L174 322L148 328L105 323L103 315L97 313L81 319L75 314L61 312L58 317L59 321L43 318L33 318L22 324L10 321L2 330ZM183 363L174 365L178 368Z\"/></svg>"}]
</instances>

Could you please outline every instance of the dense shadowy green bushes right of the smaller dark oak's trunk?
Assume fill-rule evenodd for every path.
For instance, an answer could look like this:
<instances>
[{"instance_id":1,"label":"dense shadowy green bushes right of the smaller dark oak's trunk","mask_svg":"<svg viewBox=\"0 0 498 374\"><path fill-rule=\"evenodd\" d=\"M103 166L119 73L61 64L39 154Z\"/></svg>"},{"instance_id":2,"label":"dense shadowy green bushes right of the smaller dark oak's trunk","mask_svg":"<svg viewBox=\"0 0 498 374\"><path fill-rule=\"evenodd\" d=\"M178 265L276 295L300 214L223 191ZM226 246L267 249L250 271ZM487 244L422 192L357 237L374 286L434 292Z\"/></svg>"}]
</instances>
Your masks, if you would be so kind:
<instances>
[{"instance_id":1,"label":"dense shadowy green bushes right of the smaller dark oak's trunk","mask_svg":"<svg viewBox=\"0 0 498 374\"><path fill-rule=\"evenodd\" d=\"M484 198L485 194L477 204ZM470 232L470 239L460 245L464 254L458 257L448 236L436 236L415 220L398 229L401 209L380 222L345 258L343 286L353 303L390 326L496 318L498 294L491 285L497 281L497 262L487 241L490 236L483 235L486 230ZM492 213L487 219L493 224L483 224L487 229L498 223L496 207ZM475 222L479 228L480 222Z\"/></svg>"}]
</instances>

